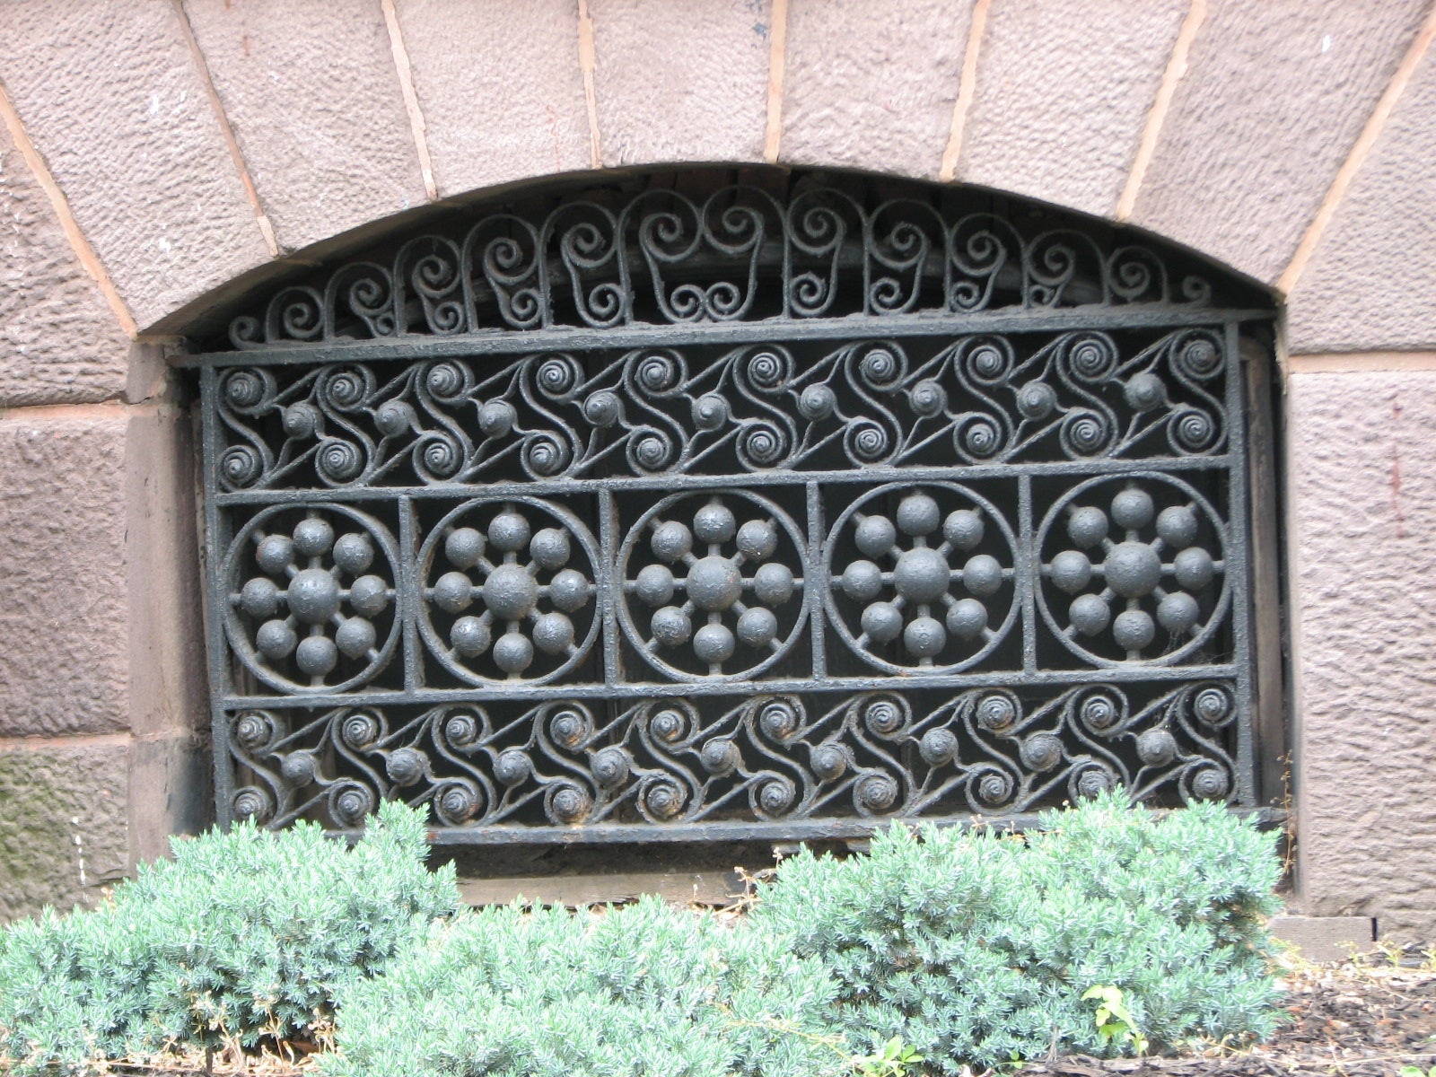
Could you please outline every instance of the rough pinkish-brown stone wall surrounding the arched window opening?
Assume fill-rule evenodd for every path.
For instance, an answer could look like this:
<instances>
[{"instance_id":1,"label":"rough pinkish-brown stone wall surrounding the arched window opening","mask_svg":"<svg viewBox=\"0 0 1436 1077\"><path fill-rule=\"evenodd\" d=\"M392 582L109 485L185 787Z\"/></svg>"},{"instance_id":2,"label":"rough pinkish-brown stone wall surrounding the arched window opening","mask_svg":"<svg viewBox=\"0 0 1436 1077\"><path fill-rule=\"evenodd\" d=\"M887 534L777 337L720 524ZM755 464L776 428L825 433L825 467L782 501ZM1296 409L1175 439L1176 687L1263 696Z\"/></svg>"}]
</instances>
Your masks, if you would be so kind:
<instances>
[{"instance_id":1,"label":"rough pinkish-brown stone wall surrounding the arched window opening","mask_svg":"<svg viewBox=\"0 0 1436 1077\"><path fill-rule=\"evenodd\" d=\"M1285 300L1300 899L1436 938L1433 30L1430 0L0 0L0 918L207 801L171 335L478 188L765 161L1032 195Z\"/></svg>"}]
</instances>

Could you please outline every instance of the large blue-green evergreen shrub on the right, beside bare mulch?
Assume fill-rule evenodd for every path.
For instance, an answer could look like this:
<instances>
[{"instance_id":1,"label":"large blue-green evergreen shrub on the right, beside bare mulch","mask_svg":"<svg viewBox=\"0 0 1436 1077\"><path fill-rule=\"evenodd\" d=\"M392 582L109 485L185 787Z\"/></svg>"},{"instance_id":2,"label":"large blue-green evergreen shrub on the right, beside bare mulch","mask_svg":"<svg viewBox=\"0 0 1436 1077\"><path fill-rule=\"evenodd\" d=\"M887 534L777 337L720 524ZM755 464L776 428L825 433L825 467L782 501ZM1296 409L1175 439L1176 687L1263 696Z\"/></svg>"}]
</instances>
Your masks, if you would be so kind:
<instances>
[{"instance_id":1,"label":"large blue-green evergreen shrub on the right, beside bare mulch","mask_svg":"<svg viewBox=\"0 0 1436 1077\"><path fill-rule=\"evenodd\" d=\"M1083 1001L1096 985L1123 991L1153 1047L1271 1034L1275 836L1216 804L1157 817L1116 797L1043 826L1025 840L893 827L870 856L801 853L751 926L831 969L853 1043L898 1035L932 1073L1129 1050L1103 1043Z\"/></svg>"}]
</instances>

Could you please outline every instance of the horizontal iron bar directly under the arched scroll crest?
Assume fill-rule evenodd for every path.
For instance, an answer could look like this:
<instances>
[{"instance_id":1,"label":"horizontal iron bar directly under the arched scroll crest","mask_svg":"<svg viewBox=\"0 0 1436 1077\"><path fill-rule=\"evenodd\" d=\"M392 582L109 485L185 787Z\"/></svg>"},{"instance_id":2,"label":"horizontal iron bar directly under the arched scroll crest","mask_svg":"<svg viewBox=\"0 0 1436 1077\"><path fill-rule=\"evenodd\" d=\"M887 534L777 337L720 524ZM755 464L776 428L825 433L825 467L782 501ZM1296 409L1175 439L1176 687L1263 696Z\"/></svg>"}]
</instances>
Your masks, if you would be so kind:
<instances>
[{"instance_id":1,"label":"horizontal iron bar directly under the arched scroll crest","mask_svg":"<svg viewBox=\"0 0 1436 1077\"><path fill-rule=\"evenodd\" d=\"M1100 313L1099 313L1100 312ZM682 345L785 343L796 340L875 339L898 336L964 336L1054 329L1165 329L1269 322L1269 310L1179 307L1167 304L1080 306L1061 310L1011 310L975 314L852 314L847 317L774 317L760 322L701 325L636 325L615 329L495 329L458 336L406 336L375 340L325 340L276 345L238 352L204 352L175 360L177 366L286 366L452 356L514 355L547 350L616 350Z\"/></svg>"}]
</instances>

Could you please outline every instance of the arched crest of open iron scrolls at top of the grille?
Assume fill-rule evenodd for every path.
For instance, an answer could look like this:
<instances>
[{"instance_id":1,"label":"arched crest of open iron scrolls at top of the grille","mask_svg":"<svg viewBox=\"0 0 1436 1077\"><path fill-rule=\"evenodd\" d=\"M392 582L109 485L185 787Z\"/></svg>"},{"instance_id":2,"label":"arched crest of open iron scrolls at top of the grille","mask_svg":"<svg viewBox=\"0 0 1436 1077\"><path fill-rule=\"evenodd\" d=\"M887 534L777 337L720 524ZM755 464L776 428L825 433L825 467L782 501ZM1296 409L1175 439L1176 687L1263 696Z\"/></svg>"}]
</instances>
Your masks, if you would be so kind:
<instances>
[{"instance_id":1,"label":"arched crest of open iron scrolls at top of the grille","mask_svg":"<svg viewBox=\"0 0 1436 1077\"><path fill-rule=\"evenodd\" d=\"M1140 243L918 198L732 185L490 213L279 290L231 322L230 345L1211 300L1198 267Z\"/></svg>"}]
</instances>

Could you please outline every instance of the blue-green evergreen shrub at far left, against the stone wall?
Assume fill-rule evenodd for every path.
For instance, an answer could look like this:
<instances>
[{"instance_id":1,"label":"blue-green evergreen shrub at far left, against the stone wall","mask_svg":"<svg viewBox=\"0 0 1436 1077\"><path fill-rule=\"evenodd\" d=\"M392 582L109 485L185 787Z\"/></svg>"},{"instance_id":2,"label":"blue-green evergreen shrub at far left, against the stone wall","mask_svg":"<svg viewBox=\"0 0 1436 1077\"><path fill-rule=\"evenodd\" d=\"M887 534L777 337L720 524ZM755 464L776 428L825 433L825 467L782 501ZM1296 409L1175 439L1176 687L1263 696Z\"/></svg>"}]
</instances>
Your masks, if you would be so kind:
<instances>
[{"instance_id":1,"label":"blue-green evergreen shrub at far left, against the stone wall","mask_svg":"<svg viewBox=\"0 0 1436 1077\"><path fill-rule=\"evenodd\" d=\"M422 813L385 804L352 849L302 823L174 841L93 912L0 932L0 1070L292 1038L458 906Z\"/></svg>"}]
</instances>

